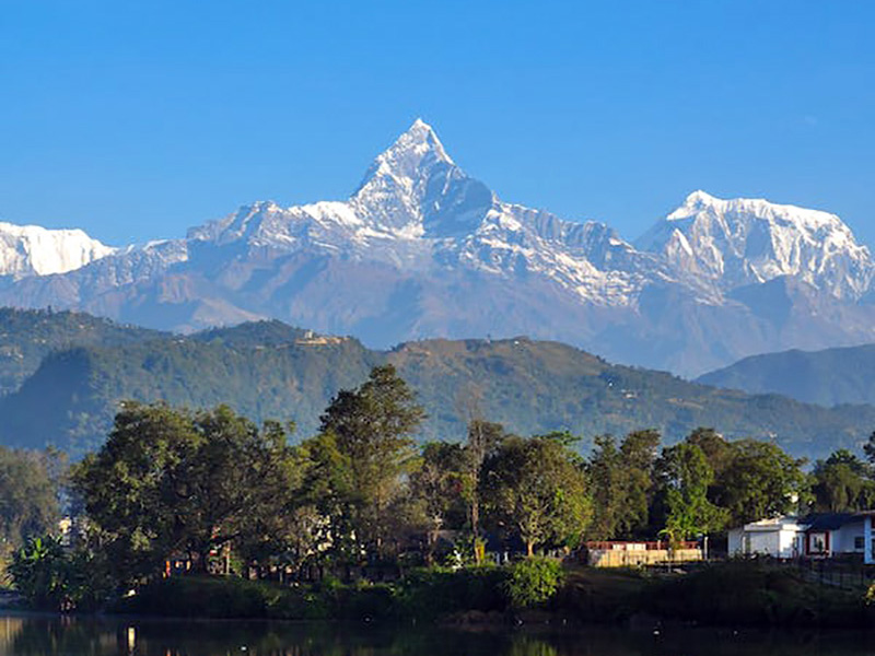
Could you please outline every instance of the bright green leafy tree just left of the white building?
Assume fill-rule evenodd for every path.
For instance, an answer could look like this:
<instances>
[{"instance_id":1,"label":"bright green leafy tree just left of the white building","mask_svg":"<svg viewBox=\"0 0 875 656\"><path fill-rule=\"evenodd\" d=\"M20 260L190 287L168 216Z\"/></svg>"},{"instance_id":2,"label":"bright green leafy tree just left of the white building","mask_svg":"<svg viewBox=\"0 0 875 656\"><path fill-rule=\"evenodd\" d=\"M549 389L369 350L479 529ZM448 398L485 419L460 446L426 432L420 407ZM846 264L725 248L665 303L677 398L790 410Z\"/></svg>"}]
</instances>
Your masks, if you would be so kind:
<instances>
[{"instance_id":1,"label":"bright green leafy tree just left of the white building","mask_svg":"<svg viewBox=\"0 0 875 656\"><path fill-rule=\"evenodd\" d=\"M714 472L701 448L688 442L664 448L655 469L665 508L661 532L679 541L723 527L728 514L708 500Z\"/></svg>"}]
</instances>

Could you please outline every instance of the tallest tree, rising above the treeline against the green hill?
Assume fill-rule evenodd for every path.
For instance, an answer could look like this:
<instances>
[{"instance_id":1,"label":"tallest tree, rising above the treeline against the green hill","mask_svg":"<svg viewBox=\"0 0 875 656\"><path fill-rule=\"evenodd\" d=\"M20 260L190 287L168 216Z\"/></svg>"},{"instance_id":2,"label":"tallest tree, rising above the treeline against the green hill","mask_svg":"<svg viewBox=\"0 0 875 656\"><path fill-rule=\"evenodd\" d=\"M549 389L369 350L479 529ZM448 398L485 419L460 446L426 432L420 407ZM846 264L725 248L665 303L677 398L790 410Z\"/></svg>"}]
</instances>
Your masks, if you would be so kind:
<instances>
[{"instance_id":1,"label":"tallest tree, rising above the treeline against the green hill","mask_svg":"<svg viewBox=\"0 0 875 656\"><path fill-rule=\"evenodd\" d=\"M322 415L349 468L348 538L382 553L392 534L392 507L416 461L412 433L425 413L392 365L375 366L358 389L341 390Z\"/></svg>"}]
</instances>

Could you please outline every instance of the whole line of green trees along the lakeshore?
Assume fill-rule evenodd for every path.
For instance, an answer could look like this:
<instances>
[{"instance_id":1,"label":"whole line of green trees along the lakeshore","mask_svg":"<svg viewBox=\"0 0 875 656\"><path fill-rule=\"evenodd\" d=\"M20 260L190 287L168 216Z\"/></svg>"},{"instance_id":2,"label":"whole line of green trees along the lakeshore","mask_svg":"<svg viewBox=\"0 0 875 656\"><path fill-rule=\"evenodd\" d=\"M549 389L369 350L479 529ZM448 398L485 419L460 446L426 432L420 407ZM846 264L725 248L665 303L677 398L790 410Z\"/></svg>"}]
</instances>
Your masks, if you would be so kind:
<instances>
[{"instance_id":1,"label":"whole line of green trees along the lakeshore","mask_svg":"<svg viewBox=\"0 0 875 656\"><path fill-rule=\"evenodd\" d=\"M464 443L417 445L424 412L392 365L340 391L296 446L287 442L294 426L258 426L224 406L127 402L104 446L65 479L70 547L31 540L10 571L37 602L89 606L166 575L172 562L291 576L458 566L482 563L488 547L532 555L583 540L686 540L780 513L856 507L875 489L871 466L848 452L806 475L775 444L699 429L666 447L655 431L604 435L582 457L569 433L521 437L472 414ZM44 482L4 506L5 539L21 544L48 529L57 506L39 502L35 519L10 508L44 500L61 477L42 456L0 456L23 472L3 484Z\"/></svg>"}]
</instances>

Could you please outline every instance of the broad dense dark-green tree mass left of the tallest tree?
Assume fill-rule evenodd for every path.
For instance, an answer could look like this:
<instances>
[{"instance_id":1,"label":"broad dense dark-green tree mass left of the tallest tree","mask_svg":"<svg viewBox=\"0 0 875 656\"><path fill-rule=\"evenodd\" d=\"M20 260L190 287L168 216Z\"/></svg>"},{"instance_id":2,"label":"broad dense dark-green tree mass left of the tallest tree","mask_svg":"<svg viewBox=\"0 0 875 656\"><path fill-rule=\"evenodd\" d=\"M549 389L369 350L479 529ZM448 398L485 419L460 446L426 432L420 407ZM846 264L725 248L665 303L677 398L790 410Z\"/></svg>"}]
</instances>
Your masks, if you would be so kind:
<instances>
[{"instance_id":1,"label":"broad dense dark-green tree mass left of the tallest tree","mask_svg":"<svg viewBox=\"0 0 875 656\"><path fill-rule=\"evenodd\" d=\"M73 482L115 576L130 584L174 553L206 571L225 544L253 550L270 540L292 477L278 424L259 431L224 406L191 414L126 402Z\"/></svg>"}]
</instances>

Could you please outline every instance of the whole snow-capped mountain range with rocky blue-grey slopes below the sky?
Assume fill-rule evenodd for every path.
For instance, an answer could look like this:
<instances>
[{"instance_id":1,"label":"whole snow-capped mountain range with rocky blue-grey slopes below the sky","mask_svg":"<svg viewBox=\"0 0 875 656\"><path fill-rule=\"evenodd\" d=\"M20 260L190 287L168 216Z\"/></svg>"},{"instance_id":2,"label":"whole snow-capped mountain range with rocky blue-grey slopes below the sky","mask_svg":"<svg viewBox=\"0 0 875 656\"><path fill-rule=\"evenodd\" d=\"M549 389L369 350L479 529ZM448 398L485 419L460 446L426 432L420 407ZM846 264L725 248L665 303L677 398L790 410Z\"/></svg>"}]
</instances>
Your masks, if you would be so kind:
<instances>
[{"instance_id":1,"label":"whole snow-capped mountain range with rocky blue-grey slopes below the sky","mask_svg":"<svg viewBox=\"0 0 875 656\"><path fill-rule=\"evenodd\" d=\"M273 317L375 348L528 335L681 375L875 341L875 263L833 214L696 191L633 244L499 199L421 120L346 201L125 248L51 235L0 224L0 305L177 331Z\"/></svg>"}]
</instances>

